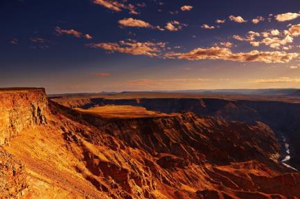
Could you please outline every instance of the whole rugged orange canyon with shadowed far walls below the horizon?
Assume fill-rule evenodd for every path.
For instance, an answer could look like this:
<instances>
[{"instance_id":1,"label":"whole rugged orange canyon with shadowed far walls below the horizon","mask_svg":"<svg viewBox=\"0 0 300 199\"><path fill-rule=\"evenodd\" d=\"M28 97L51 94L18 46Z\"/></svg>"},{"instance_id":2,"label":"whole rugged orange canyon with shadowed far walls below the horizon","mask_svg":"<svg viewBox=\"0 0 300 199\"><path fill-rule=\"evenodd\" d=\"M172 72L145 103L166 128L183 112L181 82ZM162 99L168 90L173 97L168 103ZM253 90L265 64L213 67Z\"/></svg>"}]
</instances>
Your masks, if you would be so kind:
<instances>
[{"instance_id":1,"label":"whole rugged orange canyon with shadowed far walls below the horizon","mask_svg":"<svg viewBox=\"0 0 300 199\"><path fill-rule=\"evenodd\" d=\"M0 198L300 198L296 99L139 95L1 89Z\"/></svg>"}]
</instances>

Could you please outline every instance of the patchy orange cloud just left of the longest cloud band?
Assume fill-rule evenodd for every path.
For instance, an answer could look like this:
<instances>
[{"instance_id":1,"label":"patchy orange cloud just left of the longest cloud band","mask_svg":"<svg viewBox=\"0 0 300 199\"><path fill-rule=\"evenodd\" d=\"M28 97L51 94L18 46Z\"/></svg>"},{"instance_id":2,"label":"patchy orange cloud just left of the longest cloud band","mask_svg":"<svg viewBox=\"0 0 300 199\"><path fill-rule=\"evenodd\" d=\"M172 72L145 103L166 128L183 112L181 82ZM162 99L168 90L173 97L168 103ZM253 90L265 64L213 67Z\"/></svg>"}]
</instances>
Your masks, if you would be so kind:
<instances>
[{"instance_id":1,"label":"patchy orange cloud just left of the longest cloud band","mask_svg":"<svg viewBox=\"0 0 300 199\"><path fill-rule=\"evenodd\" d=\"M128 39L127 41L118 41L118 43L99 43L99 44L86 44L91 48L102 48L109 52L127 53L131 55L147 55L156 57L161 54L161 50L166 46L163 42L153 43L151 41L139 42L136 40Z\"/></svg>"}]
</instances>

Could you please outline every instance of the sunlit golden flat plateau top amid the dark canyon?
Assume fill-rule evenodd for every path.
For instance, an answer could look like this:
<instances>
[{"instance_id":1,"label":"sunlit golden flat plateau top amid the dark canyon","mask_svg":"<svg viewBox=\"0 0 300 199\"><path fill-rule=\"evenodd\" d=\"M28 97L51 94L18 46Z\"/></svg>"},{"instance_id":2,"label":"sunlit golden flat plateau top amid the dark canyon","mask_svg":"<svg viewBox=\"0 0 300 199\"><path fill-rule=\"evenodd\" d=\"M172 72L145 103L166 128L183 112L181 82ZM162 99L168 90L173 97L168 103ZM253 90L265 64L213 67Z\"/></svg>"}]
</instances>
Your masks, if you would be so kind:
<instances>
[{"instance_id":1,"label":"sunlit golden flat plateau top amid the dark canyon","mask_svg":"<svg viewBox=\"0 0 300 199\"><path fill-rule=\"evenodd\" d=\"M130 105L107 105L99 106L89 109L75 108L77 111L82 113L88 113L91 115L98 115L105 118L142 118L142 117L166 117L173 116L176 114L159 113L155 111L148 111L141 106L130 106Z\"/></svg>"}]
</instances>

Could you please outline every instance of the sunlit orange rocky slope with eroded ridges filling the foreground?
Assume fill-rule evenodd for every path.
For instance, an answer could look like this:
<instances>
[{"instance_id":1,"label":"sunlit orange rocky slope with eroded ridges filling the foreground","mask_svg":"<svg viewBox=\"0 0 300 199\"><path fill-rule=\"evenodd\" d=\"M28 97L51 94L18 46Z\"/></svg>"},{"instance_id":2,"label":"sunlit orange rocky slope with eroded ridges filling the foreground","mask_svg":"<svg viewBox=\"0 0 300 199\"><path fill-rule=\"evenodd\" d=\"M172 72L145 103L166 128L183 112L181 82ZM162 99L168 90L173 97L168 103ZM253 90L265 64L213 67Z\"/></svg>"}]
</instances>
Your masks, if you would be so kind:
<instances>
[{"instance_id":1,"label":"sunlit orange rocky slope with eroded ridges filling the foreground","mask_svg":"<svg viewBox=\"0 0 300 199\"><path fill-rule=\"evenodd\" d=\"M1 100L9 142L0 147L0 198L300 197L300 174L280 164L262 122L103 119L48 102L40 89Z\"/></svg>"}]
</instances>

